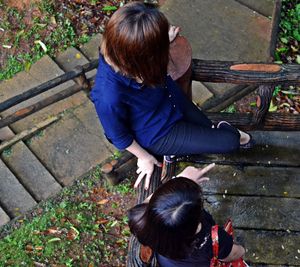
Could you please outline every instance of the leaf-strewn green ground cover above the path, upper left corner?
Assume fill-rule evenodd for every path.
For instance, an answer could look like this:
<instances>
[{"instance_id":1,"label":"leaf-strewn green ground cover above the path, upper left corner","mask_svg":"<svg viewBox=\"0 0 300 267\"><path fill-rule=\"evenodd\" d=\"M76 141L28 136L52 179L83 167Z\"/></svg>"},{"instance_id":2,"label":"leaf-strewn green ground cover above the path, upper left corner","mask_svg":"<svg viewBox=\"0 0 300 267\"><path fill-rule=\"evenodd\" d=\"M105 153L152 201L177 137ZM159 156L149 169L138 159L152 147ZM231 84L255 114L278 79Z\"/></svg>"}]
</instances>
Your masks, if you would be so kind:
<instances>
[{"instance_id":1,"label":"leaf-strewn green ground cover above the path, upper left corner","mask_svg":"<svg viewBox=\"0 0 300 267\"><path fill-rule=\"evenodd\" d=\"M0 81L102 32L121 0L0 0Z\"/></svg>"}]
</instances>

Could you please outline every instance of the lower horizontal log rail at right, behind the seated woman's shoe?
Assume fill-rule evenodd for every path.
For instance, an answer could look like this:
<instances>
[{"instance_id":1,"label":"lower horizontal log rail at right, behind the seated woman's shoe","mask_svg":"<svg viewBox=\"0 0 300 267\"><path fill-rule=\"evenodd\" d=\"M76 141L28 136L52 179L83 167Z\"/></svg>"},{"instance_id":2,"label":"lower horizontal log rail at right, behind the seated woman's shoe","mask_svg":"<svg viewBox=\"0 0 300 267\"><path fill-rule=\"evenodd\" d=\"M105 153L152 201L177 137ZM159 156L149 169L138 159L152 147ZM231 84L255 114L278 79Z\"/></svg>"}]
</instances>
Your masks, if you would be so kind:
<instances>
[{"instance_id":1,"label":"lower horizontal log rail at right, behind the seated woman's shoe","mask_svg":"<svg viewBox=\"0 0 300 267\"><path fill-rule=\"evenodd\" d=\"M213 121L228 121L241 130L264 130L264 131L300 131L300 116L290 113L268 113L261 125L255 124L252 113L213 113L206 115Z\"/></svg>"}]
</instances>

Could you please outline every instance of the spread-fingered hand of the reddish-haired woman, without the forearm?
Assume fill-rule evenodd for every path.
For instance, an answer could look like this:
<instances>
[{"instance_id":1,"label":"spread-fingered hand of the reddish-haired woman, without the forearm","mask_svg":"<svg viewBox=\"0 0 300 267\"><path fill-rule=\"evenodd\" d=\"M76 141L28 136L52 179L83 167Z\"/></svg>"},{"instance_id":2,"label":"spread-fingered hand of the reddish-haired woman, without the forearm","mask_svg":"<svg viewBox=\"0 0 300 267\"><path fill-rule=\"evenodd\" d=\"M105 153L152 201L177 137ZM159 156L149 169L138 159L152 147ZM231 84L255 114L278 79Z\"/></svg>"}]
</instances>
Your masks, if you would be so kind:
<instances>
[{"instance_id":1,"label":"spread-fingered hand of the reddish-haired woman, without the forearm","mask_svg":"<svg viewBox=\"0 0 300 267\"><path fill-rule=\"evenodd\" d=\"M158 167L162 166L162 164L160 162L158 162L157 159L155 157L153 157L152 155L150 155L150 154L146 158L139 158L138 159L138 161L137 161L138 169L137 169L136 173L139 176L138 176L138 178L137 178L137 180L134 184L135 188L137 188L139 183L142 181L142 179L146 175L145 190L148 190L149 184L150 184L150 178L151 178L151 175L154 171L154 165L157 165Z\"/></svg>"}]
</instances>

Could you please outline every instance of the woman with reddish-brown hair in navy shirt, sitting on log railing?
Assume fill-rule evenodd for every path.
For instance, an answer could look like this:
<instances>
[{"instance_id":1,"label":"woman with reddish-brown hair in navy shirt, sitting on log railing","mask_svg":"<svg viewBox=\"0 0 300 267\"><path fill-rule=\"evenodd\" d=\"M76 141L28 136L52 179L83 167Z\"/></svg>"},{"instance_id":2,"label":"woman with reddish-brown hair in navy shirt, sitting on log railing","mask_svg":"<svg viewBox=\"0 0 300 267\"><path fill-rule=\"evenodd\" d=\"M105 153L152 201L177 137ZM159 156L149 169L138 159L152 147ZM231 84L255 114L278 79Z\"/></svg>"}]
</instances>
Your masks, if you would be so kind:
<instances>
[{"instance_id":1,"label":"woman with reddish-brown hair in navy shirt, sitting on log railing","mask_svg":"<svg viewBox=\"0 0 300 267\"><path fill-rule=\"evenodd\" d=\"M227 123L212 122L167 74L169 45L179 29L157 9L140 2L124 5L109 20L91 92L105 135L118 149L138 158L137 186L153 155L227 153L251 138Z\"/></svg>"}]
</instances>

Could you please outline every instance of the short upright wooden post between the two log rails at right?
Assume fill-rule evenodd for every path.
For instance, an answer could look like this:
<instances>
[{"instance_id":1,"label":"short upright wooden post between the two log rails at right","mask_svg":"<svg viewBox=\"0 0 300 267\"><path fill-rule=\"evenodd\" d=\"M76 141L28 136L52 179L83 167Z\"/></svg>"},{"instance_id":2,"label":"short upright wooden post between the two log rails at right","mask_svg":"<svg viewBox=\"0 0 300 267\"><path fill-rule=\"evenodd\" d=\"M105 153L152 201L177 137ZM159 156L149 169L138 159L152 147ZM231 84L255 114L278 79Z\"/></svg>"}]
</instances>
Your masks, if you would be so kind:
<instances>
[{"instance_id":1,"label":"short upright wooden post between the two log rails at right","mask_svg":"<svg viewBox=\"0 0 300 267\"><path fill-rule=\"evenodd\" d=\"M272 85L260 85L258 87L258 96L256 100L256 110L254 112L254 124L259 127L265 119L272 100L275 87Z\"/></svg>"}]
</instances>

